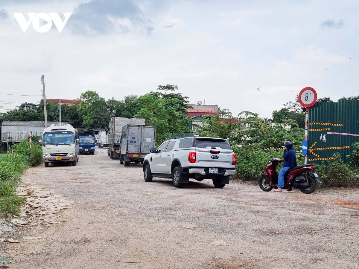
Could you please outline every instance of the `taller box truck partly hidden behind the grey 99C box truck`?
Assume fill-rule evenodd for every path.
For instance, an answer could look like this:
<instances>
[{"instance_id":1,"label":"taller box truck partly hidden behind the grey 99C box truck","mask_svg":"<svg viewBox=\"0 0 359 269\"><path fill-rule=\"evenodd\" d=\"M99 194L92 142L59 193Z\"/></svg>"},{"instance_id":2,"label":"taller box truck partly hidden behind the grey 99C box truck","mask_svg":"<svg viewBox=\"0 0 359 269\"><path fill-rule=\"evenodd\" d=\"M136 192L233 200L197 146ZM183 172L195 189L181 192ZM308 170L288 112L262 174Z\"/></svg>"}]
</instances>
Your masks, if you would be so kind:
<instances>
[{"instance_id":1,"label":"taller box truck partly hidden behind the grey 99C box truck","mask_svg":"<svg viewBox=\"0 0 359 269\"><path fill-rule=\"evenodd\" d=\"M146 119L112 117L108 124L108 150L111 159L120 158L120 142L122 127L126 124L146 124Z\"/></svg>"}]
</instances>

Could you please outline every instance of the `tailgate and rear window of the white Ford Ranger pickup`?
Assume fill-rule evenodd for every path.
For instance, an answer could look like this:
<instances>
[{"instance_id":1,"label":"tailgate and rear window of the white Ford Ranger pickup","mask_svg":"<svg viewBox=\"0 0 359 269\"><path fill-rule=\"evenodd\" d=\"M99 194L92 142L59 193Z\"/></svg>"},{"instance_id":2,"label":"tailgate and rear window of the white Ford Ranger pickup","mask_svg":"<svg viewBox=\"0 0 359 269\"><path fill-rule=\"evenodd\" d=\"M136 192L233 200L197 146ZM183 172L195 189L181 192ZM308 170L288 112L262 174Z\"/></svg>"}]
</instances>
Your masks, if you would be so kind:
<instances>
[{"instance_id":1,"label":"tailgate and rear window of the white Ford Ranger pickup","mask_svg":"<svg viewBox=\"0 0 359 269\"><path fill-rule=\"evenodd\" d=\"M233 151L224 139L195 139L196 166L232 168Z\"/></svg>"}]
</instances>

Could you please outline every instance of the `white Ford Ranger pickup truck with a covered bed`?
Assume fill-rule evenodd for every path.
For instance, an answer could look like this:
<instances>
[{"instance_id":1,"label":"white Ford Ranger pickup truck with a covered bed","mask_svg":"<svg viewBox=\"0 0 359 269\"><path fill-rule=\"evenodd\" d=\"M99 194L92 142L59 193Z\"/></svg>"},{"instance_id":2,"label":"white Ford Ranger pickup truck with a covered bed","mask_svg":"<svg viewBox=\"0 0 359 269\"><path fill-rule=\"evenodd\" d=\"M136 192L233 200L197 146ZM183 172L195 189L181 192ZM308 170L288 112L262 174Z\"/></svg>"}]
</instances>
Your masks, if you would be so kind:
<instances>
[{"instance_id":1,"label":"white Ford Ranger pickup truck with a covered bed","mask_svg":"<svg viewBox=\"0 0 359 269\"><path fill-rule=\"evenodd\" d=\"M212 137L188 137L167 140L151 149L143 162L146 182L152 178L172 178L181 188L188 179L212 179L216 188L229 184L236 174L236 155L227 140Z\"/></svg>"}]
</instances>

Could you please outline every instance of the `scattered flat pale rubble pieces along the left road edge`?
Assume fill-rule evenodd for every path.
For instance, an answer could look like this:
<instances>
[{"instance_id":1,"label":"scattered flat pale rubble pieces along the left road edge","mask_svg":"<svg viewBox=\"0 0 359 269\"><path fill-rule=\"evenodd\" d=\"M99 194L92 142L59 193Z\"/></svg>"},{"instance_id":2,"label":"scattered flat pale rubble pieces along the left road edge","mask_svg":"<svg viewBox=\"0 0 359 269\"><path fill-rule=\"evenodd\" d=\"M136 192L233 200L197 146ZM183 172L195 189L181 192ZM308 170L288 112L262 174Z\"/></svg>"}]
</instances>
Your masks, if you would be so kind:
<instances>
[{"instance_id":1,"label":"scattered flat pale rubble pieces along the left road edge","mask_svg":"<svg viewBox=\"0 0 359 269\"><path fill-rule=\"evenodd\" d=\"M31 182L22 183L18 188L18 196L26 198L25 205L20 210L19 216L13 216L12 225L17 227L34 225L55 225L66 222L57 220L60 210L71 208L74 203L67 198L56 195L50 190L35 187ZM23 238L30 239L30 238ZM34 238L31 238L34 239ZM17 243L18 240L0 238L0 241Z\"/></svg>"}]
</instances>

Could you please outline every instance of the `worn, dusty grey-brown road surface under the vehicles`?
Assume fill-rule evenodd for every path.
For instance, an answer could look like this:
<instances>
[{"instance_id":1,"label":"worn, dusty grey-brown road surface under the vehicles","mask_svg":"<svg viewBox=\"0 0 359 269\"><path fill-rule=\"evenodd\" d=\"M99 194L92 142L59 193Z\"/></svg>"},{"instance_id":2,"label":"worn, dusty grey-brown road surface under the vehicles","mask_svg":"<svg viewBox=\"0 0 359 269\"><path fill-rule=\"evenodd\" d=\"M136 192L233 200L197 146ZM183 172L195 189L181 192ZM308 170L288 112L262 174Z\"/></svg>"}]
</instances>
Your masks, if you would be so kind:
<instances>
[{"instance_id":1,"label":"worn, dusty grey-brown road surface under the vehicles","mask_svg":"<svg viewBox=\"0 0 359 269\"><path fill-rule=\"evenodd\" d=\"M10 268L359 268L353 192L216 189L209 180L178 189L145 183L141 165L124 167L106 148L76 166L33 167L23 180L75 204L61 211L66 223L23 232L41 239L6 245Z\"/></svg>"}]
</instances>

